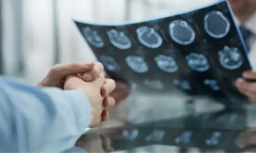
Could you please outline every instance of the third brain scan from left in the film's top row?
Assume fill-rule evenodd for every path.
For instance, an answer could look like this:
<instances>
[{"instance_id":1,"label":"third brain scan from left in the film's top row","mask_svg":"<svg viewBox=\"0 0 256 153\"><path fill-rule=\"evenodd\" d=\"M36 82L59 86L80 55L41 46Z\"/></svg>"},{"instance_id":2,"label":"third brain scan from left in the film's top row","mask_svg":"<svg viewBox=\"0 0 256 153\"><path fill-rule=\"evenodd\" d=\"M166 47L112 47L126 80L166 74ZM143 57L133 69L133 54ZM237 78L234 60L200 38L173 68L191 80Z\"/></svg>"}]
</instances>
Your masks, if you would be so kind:
<instances>
[{"instance_id":1,"label":"third brain scan from left in the film's top row","mask_svg":"<svg viewBox=\"0 0 256 153\"><path fill-rule=\"evenodd\" d=\"M136 29L138 41L149 48L158 48L162 44L161 36L154 28L141 26Z\"/></svg>"}]
</instances>

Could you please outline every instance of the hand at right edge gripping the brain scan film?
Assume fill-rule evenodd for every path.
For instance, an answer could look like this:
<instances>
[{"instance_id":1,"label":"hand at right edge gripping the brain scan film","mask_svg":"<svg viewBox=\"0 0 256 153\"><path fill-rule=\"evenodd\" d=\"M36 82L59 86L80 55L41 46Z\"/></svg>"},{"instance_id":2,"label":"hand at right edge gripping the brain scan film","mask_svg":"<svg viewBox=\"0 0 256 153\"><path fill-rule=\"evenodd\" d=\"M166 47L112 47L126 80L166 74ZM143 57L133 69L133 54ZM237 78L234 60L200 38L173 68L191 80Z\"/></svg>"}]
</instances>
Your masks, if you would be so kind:
<instances>
[{"instance_id":1,"label":"hand at right edge gripping the brain scan film","mask_svg":"<svg viewBox=\"0 0 256 153\"><path fill-rule=\"evenodd\" d=\"M256 71L244 72L243 78L248 80L256 80ZM244 79L238 79L236 81L236 86L241 94L247 96L251 103L256 104L256 82L248 82Z\"/></svg>"}]
</instances>

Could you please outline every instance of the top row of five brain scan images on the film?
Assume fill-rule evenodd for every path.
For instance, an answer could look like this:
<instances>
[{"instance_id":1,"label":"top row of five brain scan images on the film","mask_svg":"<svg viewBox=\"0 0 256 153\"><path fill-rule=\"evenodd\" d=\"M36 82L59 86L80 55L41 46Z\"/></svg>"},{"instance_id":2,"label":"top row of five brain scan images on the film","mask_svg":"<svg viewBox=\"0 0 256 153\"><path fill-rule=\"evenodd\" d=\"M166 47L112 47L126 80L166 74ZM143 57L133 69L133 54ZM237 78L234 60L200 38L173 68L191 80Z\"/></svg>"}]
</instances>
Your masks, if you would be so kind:
<instances>
[{"instance_id":1,"label":"top row of five brain scan images on the film","mask_svg":"<svg viewBox=\"0 0 256 153\"><path fill-rule=\"evenodd\" d=\"M228 34L230 21L222 12L211 11L204 16L204 30L212 38L221 39ZM97 30L85 27L82 31L89 44L97 48L104 47L105 42ZM139 26L136 34L138 41L148 48L158 48L163 42L156 30L149 26ZM132 41L120 30L110 29L107 35L110 43L119 49L129 49L132 46ZM180 45L190 45L196 38L195 29L184 20L172 21L169 24L169 35Z\"/></svg>"}]
</instances>

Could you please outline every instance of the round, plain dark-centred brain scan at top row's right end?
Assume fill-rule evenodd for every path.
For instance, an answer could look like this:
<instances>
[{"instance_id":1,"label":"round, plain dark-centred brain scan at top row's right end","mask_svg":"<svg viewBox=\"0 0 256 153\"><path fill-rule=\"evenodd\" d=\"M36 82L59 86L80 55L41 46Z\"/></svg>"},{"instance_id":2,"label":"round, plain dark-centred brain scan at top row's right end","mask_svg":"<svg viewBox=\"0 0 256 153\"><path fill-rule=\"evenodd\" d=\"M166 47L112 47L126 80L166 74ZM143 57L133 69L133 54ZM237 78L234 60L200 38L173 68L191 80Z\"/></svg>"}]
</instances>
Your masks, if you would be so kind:
<instances>
[{"instance_id":1,"label":"round, plain dark-centred brain scan at top row's right end","mask_svg":"<svg viewBox=\"0 0 256 153\"><path fill-rule=\"evenodd\" d=\"M220 39L227 35L230 29L228 19L220 11L212 11L204 17L204 30L213 38Z\"/></svg>"}]
</instances>

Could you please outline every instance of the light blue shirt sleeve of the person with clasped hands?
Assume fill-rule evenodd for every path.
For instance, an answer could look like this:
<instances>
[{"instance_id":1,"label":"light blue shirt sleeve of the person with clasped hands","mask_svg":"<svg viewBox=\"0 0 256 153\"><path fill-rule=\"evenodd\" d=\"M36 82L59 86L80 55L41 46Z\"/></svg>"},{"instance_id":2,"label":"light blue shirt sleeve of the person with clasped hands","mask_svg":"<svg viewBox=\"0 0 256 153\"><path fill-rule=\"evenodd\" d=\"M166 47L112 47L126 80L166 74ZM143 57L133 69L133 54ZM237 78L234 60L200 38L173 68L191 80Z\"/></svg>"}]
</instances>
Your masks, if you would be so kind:
<instances>
[{"instance_id":1,"label":"light blue shirt sleeve of the person with clasped hands","mask_svg":"<svg viewBox=\"0 0 256 153\"><path fill-rule=\"evenodd\" d=\"M33 87L0 77L0 152L62 152L90 124L80 91Z\"/></svg>"}]
</instances>

